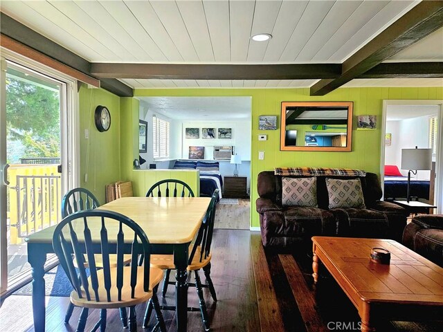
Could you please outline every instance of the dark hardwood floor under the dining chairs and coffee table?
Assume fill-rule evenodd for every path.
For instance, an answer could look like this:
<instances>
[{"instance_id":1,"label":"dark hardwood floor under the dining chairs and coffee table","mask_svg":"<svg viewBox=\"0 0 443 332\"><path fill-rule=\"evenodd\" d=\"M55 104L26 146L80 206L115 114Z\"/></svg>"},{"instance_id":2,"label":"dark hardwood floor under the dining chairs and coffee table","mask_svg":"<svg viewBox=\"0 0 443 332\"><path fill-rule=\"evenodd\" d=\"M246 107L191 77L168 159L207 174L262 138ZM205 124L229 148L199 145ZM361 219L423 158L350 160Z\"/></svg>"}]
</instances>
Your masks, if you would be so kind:
<instances>
[{"instance_id":1,"label":"dark hardwood floor under the dining chairs and coffee table","mask_svg":"<svg viewBox=\"0 0 443 332\"><path fill-rule=\"evenodd\" d=\"M211 277L218 302L214 303L204 289L211 330L213 331L330 331L327 326L344 322L359 327L359 315L341 288L322 272L318 286L311 277L311 259L264 250L260 233L247 230L215 230ZM201 273L202 281L204 275ZM198 307L195 288L190 288L188 304ZM32 306L28 295L12 295L0 308L0 331L33 331ZM63 318L69 299L46 297L46 331L75 331L80 311L75 309L71 324ZM174 302L174 287L168 288L165 299ZM145 305L138 306L138 331ZM174 311L163 311L168 331L176 331ZM98 311L89 314L87 331L98 320ZM331 323L332 322L332 323ZM386 322L382 332L437 332L443 322ZM107 331L123 331L118 311L109 311ZM204 331L199 312L188 313L188 331ZM338 331L338 329L336 329ZM341 330L350 331L350 329Z\"/></svg>"}]
</instances>

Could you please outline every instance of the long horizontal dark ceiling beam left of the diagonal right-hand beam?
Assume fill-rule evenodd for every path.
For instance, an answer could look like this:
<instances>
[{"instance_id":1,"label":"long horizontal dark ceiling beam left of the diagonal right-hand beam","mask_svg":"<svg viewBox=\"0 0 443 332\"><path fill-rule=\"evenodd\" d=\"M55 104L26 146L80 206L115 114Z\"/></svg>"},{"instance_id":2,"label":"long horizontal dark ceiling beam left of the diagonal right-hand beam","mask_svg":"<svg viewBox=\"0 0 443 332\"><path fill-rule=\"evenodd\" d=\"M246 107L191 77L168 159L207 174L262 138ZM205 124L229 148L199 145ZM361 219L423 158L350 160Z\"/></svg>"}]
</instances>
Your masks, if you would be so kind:
<instances>
[{"instance_id":1,"label":"long horizontal dark ceiling beam left of the diagonal right-hand beam","mask_svg":"<svg viewBox=\"0 0 443 332\"><path fill-rule=\"evenodd\" d=\"M313 80L340 74L341 64L91 64L91 75L100 78Z\"/></svg>"}]
</instances>

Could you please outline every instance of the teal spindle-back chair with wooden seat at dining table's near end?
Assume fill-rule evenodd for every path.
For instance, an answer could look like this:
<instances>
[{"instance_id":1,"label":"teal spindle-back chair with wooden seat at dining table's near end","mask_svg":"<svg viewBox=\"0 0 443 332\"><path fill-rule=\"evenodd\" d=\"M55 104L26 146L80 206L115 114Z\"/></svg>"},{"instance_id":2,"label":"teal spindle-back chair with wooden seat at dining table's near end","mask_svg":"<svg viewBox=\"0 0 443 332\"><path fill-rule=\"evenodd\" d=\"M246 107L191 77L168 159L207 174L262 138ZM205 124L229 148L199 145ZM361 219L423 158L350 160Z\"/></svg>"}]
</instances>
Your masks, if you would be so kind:
<instances>
[{"instance_id":1,"label":"teal spindle-back chair with wooden seat at dining table's near end","mask_svg":"<svg viewBox=\"0 0 443 332\"><path fill-rule=\"evenodd\" d=\"M108 237L108 229L118 230ZM92 230L100 230L100 239L92 239ZM136 304L151 299L156 311L157 324L166 331L156 290L163 271L150 267L150 242L141 227L123 214L105 210L87 210L66 216L53 234L54 252L66 272L74 290L71 302L83 309L77 331L84 331L89 308L100 309L100 320L91 331L105 331L107 309L129 307L129 331L136 331ZM132 252L129 266L125 266L124 252ZM97 254L97 252L101 252ZM110 255L116 254L116 266L111 266ZM102 266L96 264L100 255ZM138 266L138 255L144 261ZM85 258L89 267L89 277ZM78 269L79 273L77 273Z\"/></svg>"}]
</instances>

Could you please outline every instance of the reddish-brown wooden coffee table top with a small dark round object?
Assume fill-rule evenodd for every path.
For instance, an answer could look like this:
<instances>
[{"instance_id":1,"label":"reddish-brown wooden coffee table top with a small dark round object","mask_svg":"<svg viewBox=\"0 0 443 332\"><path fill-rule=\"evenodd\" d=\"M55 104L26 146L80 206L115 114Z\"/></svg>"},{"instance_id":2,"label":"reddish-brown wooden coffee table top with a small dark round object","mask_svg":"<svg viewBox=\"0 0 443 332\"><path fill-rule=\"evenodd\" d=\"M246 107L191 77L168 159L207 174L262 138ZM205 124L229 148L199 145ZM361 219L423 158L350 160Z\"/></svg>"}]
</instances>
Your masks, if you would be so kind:
<instances>
[{"instance_id":1,"label":"reddish-brown wooden coffee table top with a small dark round object","mask_svg":"<svg viewBox=\"0 0 443 332\"><path fill-rule=\"evenodd\" d=\"M345 237L313 237L312 241L320 250L320 260L325 264L326 258L325 265L332 264L339 273L338 284L351 287L365 302L443 306L443 268L397 241ZM390 251L390 264L370 260L374 247Z\"/></svg>"}]
</instances>

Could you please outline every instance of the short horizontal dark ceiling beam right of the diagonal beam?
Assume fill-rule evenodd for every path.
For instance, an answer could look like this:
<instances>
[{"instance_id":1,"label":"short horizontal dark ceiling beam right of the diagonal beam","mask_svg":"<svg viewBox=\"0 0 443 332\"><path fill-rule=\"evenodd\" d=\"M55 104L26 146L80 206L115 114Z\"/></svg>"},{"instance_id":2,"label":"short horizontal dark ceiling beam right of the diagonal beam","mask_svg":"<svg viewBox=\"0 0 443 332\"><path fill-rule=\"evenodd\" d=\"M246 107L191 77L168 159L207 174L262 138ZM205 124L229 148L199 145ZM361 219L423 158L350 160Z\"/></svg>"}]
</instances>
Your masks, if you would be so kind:
<instances>
[{"instance_id":1,"label":"short horizontal dark ceiling beam right of the diagonal beam","mask_svg":"<svg viewBox=\"0 0 443 332\"><path fill-rule=\"evenodd\" d=\"M443 77L443 62L387 62L357 78L438 78Z\"/></svg>"}]
</instances>

